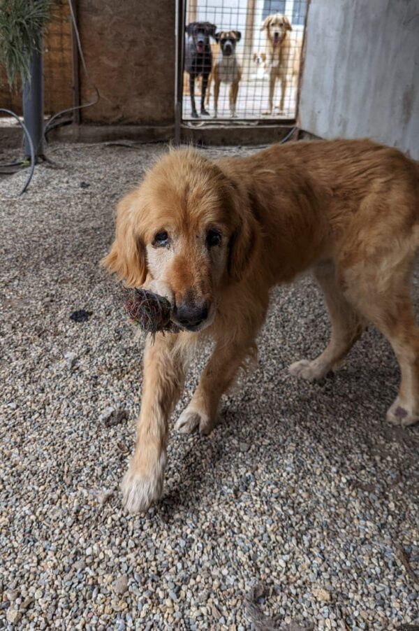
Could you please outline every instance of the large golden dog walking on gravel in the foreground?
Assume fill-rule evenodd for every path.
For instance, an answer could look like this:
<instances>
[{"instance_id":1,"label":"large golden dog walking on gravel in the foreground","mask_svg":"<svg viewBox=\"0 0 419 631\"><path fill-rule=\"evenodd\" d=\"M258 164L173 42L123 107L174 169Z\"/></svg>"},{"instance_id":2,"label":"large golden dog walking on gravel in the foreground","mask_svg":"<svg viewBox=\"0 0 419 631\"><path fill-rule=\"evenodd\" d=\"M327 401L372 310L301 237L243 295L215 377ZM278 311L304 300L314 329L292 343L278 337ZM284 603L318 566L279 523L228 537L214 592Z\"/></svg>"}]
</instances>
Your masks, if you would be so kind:
<instances>
[{"instance_id":1,"label":"large golden dog walking on gravel in the foreground","mask_svg":"<svg viewBox=\"0 0 419 631\"><path fill-rule=\"evenodd\" d=\"M419 419L419 329L409 281L419 246L419 166L370 141L274 145L212 162L171 150L120 202L103 263L131 287L166 296L178 333L147 339L135 453L122 483L132 513L161 496L168 420L196 343L214 341L180 432L209 434L223 392L255 352L270 289L311 270L332 332L291 374L335 369L372 322L390 342L402 381L390 423ZM362 402L360 403L362 406Z\"/></svg>"}]
</instances>

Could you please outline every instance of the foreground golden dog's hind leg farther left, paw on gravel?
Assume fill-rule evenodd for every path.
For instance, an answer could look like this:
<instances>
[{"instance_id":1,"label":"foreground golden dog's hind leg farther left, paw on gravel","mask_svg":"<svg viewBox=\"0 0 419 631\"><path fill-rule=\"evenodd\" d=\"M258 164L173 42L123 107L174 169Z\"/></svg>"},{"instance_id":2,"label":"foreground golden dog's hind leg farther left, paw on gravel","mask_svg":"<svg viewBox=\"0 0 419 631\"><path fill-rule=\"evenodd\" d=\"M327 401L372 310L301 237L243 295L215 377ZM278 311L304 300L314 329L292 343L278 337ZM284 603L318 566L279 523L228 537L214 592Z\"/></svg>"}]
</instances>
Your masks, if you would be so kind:
<instances>
[{"instance_id":1,"label":"foreground golden dog's hind leg farther left, paw on gravel","mask_svg":"<svg viewBox=\"0 0 419 631\"><path fill-rule=\"evenodd\" d=\"M367 323L345 299L332 261L317 264L313 273L325 296L332 323L332 335L328 346L316 359L300 360L291 364L289 371L292 375L309 381L320 379L337 368Z\"/></svg>"}]
</instances>

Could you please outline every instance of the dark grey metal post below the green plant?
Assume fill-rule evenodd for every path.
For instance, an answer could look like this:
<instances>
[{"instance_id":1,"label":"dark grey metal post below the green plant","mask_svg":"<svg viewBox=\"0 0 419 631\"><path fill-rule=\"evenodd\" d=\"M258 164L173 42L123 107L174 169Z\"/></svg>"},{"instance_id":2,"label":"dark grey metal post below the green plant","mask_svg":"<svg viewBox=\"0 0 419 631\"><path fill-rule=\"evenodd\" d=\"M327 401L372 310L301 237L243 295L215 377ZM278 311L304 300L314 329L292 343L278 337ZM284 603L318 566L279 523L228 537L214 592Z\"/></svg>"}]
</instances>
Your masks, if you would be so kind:
<instances>
[{"instance_id":1,"label":"dark grey metal post below the green plant","mask_svg":"<svg viewBox=\"0 0 419 631\"><path fill-rule=\"evenodd\" d=\"M31 51L31 83L24 84L22 99L24 124L31 136L37 159L43 157L43 54L37 50ZM26 138L24 152L27 157L31 155Z\"/></svg>"}]
</instances>

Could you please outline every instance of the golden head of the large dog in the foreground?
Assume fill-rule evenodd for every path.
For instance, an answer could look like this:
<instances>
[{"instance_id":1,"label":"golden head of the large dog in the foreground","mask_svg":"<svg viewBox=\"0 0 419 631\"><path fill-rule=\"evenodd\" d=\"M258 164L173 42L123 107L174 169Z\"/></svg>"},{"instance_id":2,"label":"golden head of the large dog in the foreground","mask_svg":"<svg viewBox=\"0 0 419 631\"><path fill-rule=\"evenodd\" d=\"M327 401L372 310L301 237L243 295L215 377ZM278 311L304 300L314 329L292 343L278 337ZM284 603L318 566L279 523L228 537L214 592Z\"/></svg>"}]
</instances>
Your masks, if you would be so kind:
<instances>
[{"instance_id":1,"label":"golden head of the large dog in the foreground","mask_svg":"<svg viewBox=\"0 0 419 631\"><path fill-rule=\"evenodd\" d=\"M258 223L238 186L196 150L173 150L117 208L105 267L131 287L166 296L172 320L209 326L217 296L251 268Z\"/></svg>"}]
</instances>

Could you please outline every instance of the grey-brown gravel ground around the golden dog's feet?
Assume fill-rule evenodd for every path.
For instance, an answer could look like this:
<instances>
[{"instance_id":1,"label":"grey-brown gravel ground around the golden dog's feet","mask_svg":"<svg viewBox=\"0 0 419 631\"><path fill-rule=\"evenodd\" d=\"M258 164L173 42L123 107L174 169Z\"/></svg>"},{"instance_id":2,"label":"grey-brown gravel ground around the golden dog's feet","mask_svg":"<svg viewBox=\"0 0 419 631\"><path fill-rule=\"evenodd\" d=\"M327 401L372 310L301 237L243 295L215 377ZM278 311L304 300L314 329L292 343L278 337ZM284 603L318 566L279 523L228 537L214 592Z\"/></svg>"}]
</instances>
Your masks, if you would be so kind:
<instances>
[{"instance_id":1,"label":"grey-brown gravel ground around the golden dog's feet","mask_svg":"<svg viewBox=\"0 0 419 631\"><path fill-rule=\"evenodd\" d=\"M122 510L143 341L98 261L164 150L54 146L23 197L25 173L0 179L0 628L418 625L419 427L385 424L399 374L375 330L323 383L288 376L328 338L309 278L273 292L213 434L170 432L161 502Z\"/></svg>"}]
</instances>

